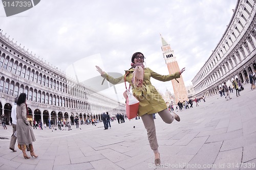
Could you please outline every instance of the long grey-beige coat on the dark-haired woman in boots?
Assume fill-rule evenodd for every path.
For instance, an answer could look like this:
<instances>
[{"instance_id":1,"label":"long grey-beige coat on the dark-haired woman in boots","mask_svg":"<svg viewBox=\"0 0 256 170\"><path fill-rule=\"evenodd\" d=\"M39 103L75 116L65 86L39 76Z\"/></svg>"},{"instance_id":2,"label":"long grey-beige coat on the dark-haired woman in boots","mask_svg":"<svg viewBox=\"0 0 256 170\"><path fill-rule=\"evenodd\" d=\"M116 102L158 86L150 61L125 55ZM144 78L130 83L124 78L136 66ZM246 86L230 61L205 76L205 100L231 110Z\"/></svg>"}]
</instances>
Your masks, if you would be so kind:
<instances>
[{"instance_id":1,"label":"long grey-beige coat on the dark-haired woman in boots","mask_svg":"<svg viewBox=\"0 0 256 170\"><path fill-rule=\"evenodd\" d=\"M35 136L32 127L27 120L27 109L25 103L17 105L17 142L18 144L32 144L35 141ZM27 125L29 126L27 126Z\"/></svg>"}]
</instances>

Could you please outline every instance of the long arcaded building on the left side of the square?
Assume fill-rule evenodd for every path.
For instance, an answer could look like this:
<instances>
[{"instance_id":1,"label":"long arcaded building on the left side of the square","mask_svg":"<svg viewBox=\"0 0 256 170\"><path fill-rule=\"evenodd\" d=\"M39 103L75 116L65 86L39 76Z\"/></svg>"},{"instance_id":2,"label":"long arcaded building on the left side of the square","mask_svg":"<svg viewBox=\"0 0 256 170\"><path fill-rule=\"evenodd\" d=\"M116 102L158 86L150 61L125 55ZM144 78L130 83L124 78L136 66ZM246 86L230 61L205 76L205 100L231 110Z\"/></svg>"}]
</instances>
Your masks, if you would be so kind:
<instances>
[{"instance_id":1,"label":"long arcaded building on the left side of the square","mask_svg":"<svg viewBox=\"0 0 256 170\"><path fill-rule=\"evenodd\" d=\"M49 118L74 123L81 120L101 120L103 111L125 113L124 104L94 91L63 72L36 58L9 36L0 32L0 115L10 121L14 99L27 94L28 119L48 125ZM103 79L103 78L102 78ZM83 122L82 121L82 122ZM33 121L32 121L33 122Z\"/></svg>"}]
</instances>

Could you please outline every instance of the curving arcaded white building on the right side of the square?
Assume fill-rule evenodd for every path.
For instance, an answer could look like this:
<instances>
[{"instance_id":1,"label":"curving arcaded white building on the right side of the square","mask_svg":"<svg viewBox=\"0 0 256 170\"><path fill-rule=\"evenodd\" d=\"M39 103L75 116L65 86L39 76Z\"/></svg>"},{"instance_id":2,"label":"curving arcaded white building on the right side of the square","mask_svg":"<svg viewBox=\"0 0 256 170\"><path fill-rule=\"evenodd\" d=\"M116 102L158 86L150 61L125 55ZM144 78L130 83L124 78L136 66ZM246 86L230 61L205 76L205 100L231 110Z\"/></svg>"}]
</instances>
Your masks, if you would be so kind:
<instances>
[{"instance_id":1,"label":"curving arcaded white building on the right side of the square","mask_svg":"<svg viewBox=\"0 0 256 170\"><path fill-rule=\"evenodd\" d=\"M192 81L194 97L216 95L224 82L232 87L237 78L247 83L249 73L255 73L255 12L255 0L238 0L220 42Z\"/></svg>"}]
</instances>

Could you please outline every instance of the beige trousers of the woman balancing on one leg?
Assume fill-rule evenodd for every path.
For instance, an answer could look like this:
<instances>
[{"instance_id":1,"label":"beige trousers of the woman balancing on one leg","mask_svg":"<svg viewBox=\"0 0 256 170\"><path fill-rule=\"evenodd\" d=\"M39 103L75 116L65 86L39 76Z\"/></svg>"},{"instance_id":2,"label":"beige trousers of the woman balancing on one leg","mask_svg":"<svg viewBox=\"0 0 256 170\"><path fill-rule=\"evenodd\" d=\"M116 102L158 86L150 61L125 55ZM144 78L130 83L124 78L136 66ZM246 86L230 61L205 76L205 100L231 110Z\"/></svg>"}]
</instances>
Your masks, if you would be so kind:
<instances>
[{"instance_id":1,"label":"beige trousers of the woman balancing on one leg","mask_svg":"<svg viewBox=\"0 0 256 170\"><path fill-rule=\"evenodd\" d=\"M168 109L164 109L158 112L158 114L162 118L163 122L165 122L166 124L171 124L174 121L174 115L170 114ZM150 142L150 147L154 151L154 153L158 153L156 127L153 119L153 114L144 114L141 116L141 119L147 131L147 138Z\"/></svg>"}]
</instances>

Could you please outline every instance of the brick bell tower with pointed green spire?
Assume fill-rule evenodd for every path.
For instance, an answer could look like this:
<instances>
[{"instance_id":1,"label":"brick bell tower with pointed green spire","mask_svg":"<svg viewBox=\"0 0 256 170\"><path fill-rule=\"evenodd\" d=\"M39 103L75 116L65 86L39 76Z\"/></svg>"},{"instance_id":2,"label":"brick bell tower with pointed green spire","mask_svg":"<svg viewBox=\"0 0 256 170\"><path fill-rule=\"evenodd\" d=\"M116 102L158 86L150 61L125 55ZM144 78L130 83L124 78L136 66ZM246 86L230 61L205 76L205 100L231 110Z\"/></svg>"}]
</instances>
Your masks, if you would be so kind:
<instances>
[{"instance_id":1,"label":"brick bell tower with pointed green spire","mask_svg":"<svg viewBox=\"0 0 256 170\"><path fill-rule=\"evenodd\" d=\"M165 60L165 64L167 65L169 74L174 74L175 72L180 71L178 62L176 60L176 56L170 45L163 39L162 35L160 34L162 39L162 52L163 58ZM174 95L175 95L175 103L177 104L179 101L188 101L186 87L182 78L182 75L179 79L177 79L179 83L174 79L172 80L173 88L174 88Z\"/></svg>"}]
</instances>

